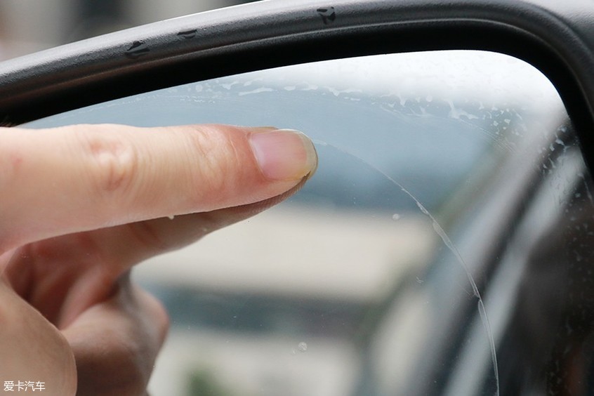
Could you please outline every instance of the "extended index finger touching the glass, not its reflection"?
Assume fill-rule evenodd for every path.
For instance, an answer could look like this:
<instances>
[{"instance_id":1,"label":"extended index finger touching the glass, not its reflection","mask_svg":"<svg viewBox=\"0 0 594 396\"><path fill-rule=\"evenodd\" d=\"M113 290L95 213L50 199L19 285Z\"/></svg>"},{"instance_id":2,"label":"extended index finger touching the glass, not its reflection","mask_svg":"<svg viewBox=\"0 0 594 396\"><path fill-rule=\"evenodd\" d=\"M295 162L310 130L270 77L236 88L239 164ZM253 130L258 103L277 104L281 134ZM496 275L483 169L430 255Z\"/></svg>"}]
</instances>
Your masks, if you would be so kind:
<instances>
[{"instance_id":1,"label":"extended index finger touching the glass, not its reflection","mask_svg":"<svg viewBox=\"0 0 594 396\"><path fill-rule=\"evenodd\" d=\"M274 128L2 128L0 251L259 202L290 190L315 166L308 138Z\"/></svg>"}]
</instances>

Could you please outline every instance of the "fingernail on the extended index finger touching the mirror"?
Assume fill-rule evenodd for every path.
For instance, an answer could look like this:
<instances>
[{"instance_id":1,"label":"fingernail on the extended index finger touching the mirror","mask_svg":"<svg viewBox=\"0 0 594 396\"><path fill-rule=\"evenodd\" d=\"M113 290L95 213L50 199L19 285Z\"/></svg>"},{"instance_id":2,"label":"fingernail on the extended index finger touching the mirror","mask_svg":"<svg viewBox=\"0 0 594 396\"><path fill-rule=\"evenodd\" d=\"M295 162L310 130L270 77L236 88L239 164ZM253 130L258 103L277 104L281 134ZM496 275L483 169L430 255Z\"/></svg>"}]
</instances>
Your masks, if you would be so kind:
<instances>
[{"instance_id":1,"label":"fingernail on the extended index finger touching the mirror","mask_svg":"<svg viewBox=\"0 0 594 396\"><path fill-rule=\"evenodd\" d=\"M317 154L314 145L299 131L255 129L249 141L266 178L299 180L315 171Z\"/></svg>"}]
</instances>

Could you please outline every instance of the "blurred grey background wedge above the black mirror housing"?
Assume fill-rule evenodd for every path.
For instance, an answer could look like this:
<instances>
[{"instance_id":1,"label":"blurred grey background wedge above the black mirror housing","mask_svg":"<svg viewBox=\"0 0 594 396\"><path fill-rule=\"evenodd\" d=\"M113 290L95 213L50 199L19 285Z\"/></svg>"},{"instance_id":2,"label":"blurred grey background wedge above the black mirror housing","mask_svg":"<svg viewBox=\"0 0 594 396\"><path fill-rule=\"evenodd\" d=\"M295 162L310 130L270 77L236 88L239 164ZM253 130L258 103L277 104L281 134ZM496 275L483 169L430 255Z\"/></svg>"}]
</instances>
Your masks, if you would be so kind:
<instances>
[{"instance_id":1,"label":"blurred grey background wedge above the black mirror housing","mask_svg":"<svg viewBox=\"0 0 594 396\"><path fill-rule=\"evenodd\" d=\"M0 60L251 0L3 0Z\"/></svg>"}]
</instances>

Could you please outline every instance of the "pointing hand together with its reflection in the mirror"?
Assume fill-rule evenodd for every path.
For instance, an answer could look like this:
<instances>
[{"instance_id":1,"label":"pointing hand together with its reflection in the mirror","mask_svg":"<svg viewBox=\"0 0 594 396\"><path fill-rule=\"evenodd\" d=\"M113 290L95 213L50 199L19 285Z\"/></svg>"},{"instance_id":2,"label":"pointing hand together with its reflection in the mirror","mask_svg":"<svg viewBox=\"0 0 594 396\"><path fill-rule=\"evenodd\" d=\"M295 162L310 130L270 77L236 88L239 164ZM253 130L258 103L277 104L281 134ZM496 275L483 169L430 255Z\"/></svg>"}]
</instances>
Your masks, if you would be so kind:
<instances>
[{"instance_id":1,"label":"pointing hand together with its reflection in the mirror","mask_svg":"<svg viewBox=\"0 0 594 396\"><path fill-rule=\"evenodd\" d=\"M0 128L0 385L145 395L169 323L131 268L282 201L316 165L274 128Z\"/></svg>"}]
</instances>

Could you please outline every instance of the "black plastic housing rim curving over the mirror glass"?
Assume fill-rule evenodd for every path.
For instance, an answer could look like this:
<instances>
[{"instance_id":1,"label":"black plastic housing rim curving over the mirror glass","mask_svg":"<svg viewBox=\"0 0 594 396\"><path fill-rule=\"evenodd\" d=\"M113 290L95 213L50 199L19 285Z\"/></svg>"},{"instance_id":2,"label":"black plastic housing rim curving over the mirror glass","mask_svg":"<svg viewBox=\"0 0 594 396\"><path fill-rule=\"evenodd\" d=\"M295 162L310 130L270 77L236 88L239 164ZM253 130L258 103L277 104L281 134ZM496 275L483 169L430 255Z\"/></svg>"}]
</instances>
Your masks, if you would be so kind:
<instances>
[{"instance_id":1,"label":"black plastic housing rim curving over the mirror glass","mask_svg":"<svg viewBox=\"0 0 594 396\"><path fill-rule=\"evenodd\" d=\"M590 17L590 18L588 18ZM587 0L272 0L156 22L0 64L0 121L21 124L192 81L315 60L475 49L555 84L594 164Z\"/></svg>"}]
</instances>

